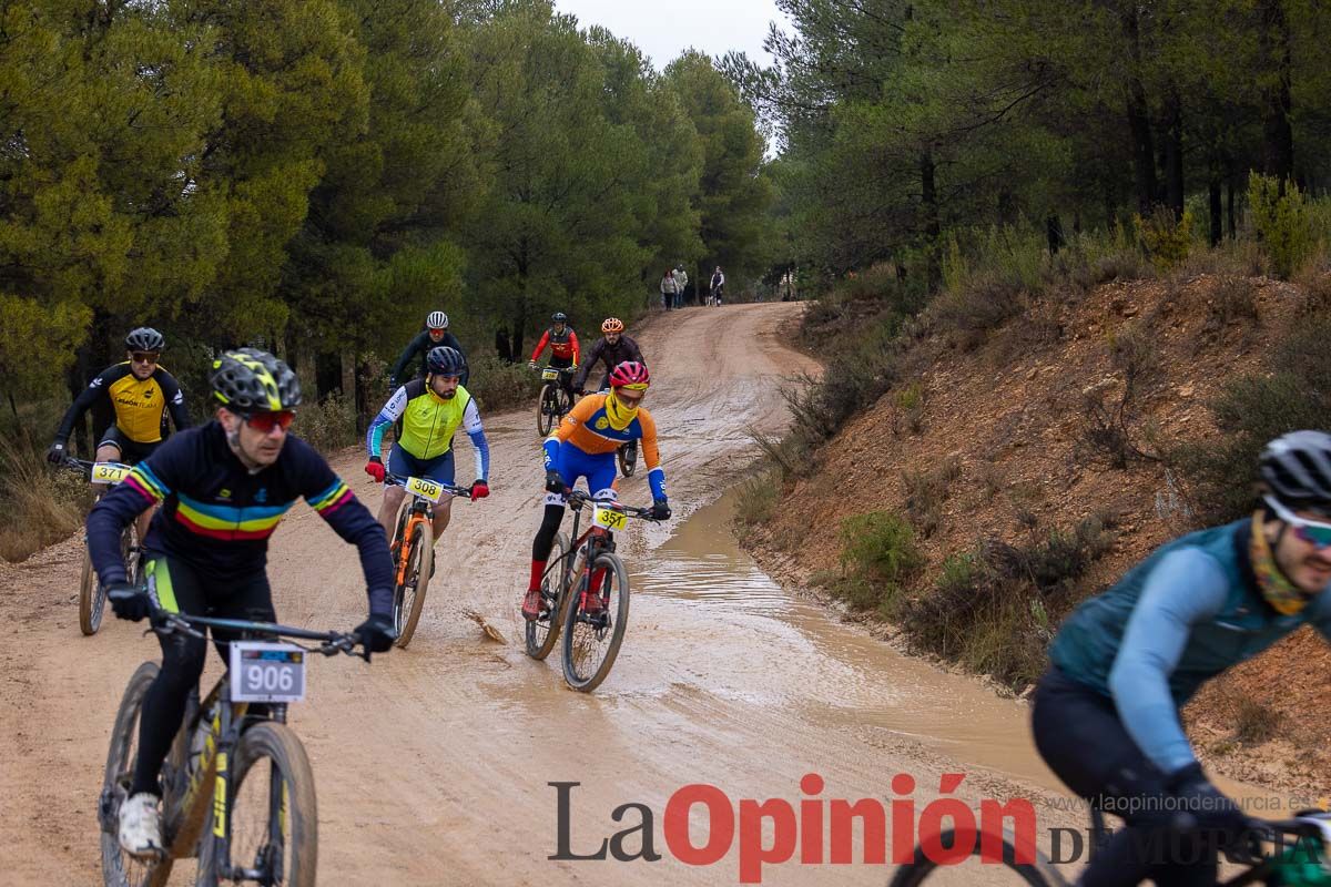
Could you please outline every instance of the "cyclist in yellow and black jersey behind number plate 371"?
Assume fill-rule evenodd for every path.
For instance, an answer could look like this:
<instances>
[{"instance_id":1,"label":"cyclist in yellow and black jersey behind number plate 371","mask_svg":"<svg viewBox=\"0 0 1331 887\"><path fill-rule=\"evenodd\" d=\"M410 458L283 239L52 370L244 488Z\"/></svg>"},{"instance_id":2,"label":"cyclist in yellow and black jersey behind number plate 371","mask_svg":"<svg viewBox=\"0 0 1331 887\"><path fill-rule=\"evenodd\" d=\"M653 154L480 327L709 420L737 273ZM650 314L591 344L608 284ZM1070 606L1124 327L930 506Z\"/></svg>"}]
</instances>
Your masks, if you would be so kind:
<instances>
[{"instance_id":1,"label":"cyclist in yellow and black jersey behind number plate 371","mask_svg":"<svg viewBox=\"0 0 1331 887\"><path fill-rule=\"evenodd\" d=\"M97 461L136 465L146 459L162 442L162 415L166 411L170 411L176 431L189 428L185 395L176 378L157 363L165 347L166 339L152 327L138 327L125 336L128 359L102 370L83 390L60 420L47 459L57 465L64 461L75 423L101 398L110 400L116 420L101 435ZM148 533L152 517L152 509L138 517L140 539Z\"/></svg>"}]
</instances>

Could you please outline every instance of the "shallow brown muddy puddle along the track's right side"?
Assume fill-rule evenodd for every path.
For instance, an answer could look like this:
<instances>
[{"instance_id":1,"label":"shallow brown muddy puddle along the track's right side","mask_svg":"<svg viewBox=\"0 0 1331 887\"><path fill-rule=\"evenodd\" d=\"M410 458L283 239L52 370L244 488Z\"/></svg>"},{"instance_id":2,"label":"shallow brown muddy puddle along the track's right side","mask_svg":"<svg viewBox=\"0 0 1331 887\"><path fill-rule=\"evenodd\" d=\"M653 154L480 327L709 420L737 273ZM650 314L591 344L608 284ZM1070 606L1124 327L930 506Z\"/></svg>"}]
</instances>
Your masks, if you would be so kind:
<instances>
[{"instance_id":1,"label":"shallow brown muddy puddle along the track's right side","mask_svg":"<svg viewBox=\"0 0 1331 887\"><path fill-rule=\"evenodd\" d=\"M784 710L881 746L906 738L956 759L1058 787L1030 741L1028 709L894 652L781 589L739 548L733 493L658 548L628 556L630 637L600 696L687 689Z\"/></svg>"}]
</instances>

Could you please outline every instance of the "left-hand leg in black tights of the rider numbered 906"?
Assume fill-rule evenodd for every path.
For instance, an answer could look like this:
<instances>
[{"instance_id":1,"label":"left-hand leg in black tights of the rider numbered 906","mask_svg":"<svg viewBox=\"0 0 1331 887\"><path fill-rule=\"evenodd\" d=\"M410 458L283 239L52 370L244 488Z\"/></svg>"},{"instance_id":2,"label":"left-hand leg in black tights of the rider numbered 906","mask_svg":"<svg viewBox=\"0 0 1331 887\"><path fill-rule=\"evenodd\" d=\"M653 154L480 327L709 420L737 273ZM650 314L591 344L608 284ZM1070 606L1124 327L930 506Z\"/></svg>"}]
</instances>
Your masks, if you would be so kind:
<instances>
[{"instance_id":1,"label":"left-hand leg in black tights of the rider numbered 906","mask_svg":"<svg viewBox=\"0 0 1331 887\"><path fill-rule=\"evenodd\" d=\"M177 559L153 555L145 565L148 590L157 605L170 613L202 616L208 604L198 574ZM162 648L162 666L144 694L138 721L138 759L129 794L142 791L161 797L157 777L170 743L185 717L189 692L198 686L204 673L208 644L180 632L157 636Z\"/></svg>"}]
</instances>

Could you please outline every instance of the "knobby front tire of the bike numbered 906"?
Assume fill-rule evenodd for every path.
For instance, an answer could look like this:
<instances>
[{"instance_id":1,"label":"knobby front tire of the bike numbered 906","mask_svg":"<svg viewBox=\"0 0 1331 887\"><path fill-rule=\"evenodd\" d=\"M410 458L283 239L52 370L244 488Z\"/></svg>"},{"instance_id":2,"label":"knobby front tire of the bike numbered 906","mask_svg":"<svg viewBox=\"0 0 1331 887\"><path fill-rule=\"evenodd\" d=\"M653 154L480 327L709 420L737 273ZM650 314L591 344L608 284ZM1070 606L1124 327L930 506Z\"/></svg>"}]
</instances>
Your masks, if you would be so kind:
<instances>
[{"instance_id":1,"label":"knobby front tire of the bike numbered 906","mask_svg":"<svg viewBox=\"0 0 1331 887\"><path fill-rule=\"evenodd\" d=\"M236 749L236 761L232 765L230 797L226 799L226 827L232 835L230 863L250 866L258 856L258 850L248 852L246 848L237 855L234 843L237 834L237 813L246 817L248 810L241 806L237 811L237 799L245 786L245 777L250 774L260 761L270 762L270 774L276 770L281 774L281 781L274 786L269 777L269 810L260 814L265 818L268 838L273 838L273 823L268 821L268 813L274 807L272 791L278 786L285 787L282 801L276 806L280 810L278 831L290 831L290 839L282 838L282 847L276 854L284 863L281 880L273 882L284 887L314 887L318 876L318 847L319 847L319 817L318 799L314 794L314 770L310 759L305 754L305 746L299 737L285 723L257 723L241 735L240 746ZM257 811L256 811L257 813ZM289 821L289 823L287 823ZM198 858L198 879L196 887L218 887L218 859L220 842L213 830L204 832L202 846ZM225 882L232 883L232 882Z\"/></svg>"}]
</instances>

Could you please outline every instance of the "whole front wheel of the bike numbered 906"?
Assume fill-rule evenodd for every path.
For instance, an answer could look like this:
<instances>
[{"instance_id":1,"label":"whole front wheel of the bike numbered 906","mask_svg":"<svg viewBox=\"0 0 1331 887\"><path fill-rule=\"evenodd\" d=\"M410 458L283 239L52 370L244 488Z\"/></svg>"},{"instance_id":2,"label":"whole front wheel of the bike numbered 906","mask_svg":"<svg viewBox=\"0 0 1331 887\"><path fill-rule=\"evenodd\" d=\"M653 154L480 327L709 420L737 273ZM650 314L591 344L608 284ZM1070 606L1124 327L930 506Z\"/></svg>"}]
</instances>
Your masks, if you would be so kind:
<instances>
[{"instance_id":1,"label":"whole front wheel of the bike numbered 906","mask_svg":"<svg viewBox=\"0 0 1331 887\"><path fill-rule=\"evenodd\" d=\"M216 803L216 799L214 799ZM314 887L319 819L314 771L285 723L258 723L241 735L225 807L228 852L204 834L198 887L220 883Z\"/></svg>"}]
</instances>

